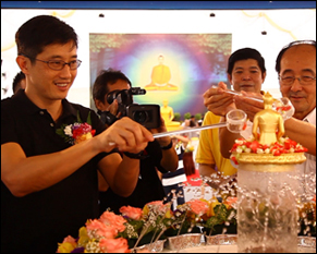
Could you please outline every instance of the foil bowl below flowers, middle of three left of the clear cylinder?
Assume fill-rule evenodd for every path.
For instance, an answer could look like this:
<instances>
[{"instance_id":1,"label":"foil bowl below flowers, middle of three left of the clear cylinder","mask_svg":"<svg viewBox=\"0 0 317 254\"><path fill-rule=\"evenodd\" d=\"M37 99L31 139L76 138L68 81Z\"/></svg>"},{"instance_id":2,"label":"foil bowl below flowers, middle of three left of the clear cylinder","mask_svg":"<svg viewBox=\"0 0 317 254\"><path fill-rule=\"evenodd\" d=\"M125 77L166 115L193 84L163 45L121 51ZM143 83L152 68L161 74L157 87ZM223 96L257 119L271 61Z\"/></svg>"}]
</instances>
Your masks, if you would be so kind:
<instances>
[{"instance_id":1,"label":"foil bowl below flowers, middle of three left of the clear cylinder","mask_svg":"<svg viewBox=\"0 0 317 254\"><path fill-rule=\"evenodd\" d=\"M167 249L171 251L179 251L182 249L200 246L202 237L202 233L185 233L176 237L169 237Z\"/></svg>"}]
</instances>

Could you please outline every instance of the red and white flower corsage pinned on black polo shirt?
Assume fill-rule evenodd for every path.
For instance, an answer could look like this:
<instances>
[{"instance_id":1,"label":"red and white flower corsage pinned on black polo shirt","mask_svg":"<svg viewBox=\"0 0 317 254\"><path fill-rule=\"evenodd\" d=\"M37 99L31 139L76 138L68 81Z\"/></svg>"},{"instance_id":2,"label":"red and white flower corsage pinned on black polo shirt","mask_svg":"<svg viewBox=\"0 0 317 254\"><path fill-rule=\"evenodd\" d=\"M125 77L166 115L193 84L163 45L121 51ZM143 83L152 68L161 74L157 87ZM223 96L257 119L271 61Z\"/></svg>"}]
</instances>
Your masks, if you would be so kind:
<instances>
[{"instance_id":1,"label":"red and white flower corsage pinned on black polo shirt","mask_svg":"<svg viewBox=\"0 0 317 254\"><path fill-rule=\"evenodd\" d=\"M83 141L92 138L96 133L96 130L92 128L90 112L88 113L87 121L83 123L77 111L77 122L73 124L62 124L57 130L57 134L65 140L66 143L74 145L80 144Z\"/></svg>"}]
</instances>

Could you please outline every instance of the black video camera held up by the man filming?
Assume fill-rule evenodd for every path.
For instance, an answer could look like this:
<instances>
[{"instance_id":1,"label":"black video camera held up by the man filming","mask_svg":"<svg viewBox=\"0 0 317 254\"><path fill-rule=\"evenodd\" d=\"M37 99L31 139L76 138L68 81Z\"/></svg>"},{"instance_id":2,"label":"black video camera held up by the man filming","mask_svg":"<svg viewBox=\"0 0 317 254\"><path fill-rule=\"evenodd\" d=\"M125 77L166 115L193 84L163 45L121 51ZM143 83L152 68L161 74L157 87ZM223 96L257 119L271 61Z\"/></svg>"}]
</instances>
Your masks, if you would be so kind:
<instances>
[{"instance_id":1,"label":"black video camera held up by the man filming","mask_svg":"<svg viewBox=\"0 0 317 254\"><path fill-rule=\"evenodd\" d=\"M129 117L132 120L144 125L146 129L156 129L160 126L160 107L159 105L136 105L133 104L133 95L145 95L146 90L141 87L132 87L123 90L112 90L107 95L107 102L112 104L118 100L118 113L121 117ZM102 116L103 114L103 116ZM107 111L100 112L101 120L111 125L117 118L107 114Z\"/></svg>"}]
</instances>

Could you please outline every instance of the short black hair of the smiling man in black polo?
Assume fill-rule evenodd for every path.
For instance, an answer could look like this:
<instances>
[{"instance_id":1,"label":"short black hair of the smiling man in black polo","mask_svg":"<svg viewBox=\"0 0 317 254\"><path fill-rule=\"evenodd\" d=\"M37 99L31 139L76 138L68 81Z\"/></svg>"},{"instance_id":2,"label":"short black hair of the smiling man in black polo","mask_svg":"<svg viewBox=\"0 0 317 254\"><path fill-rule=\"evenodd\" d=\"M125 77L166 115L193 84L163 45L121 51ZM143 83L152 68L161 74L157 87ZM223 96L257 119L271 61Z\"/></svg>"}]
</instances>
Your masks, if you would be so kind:
<instances>
[{"instance_id":1,"label":"short black hair of the smiling man in black polo","mask_svg":"<svg viewBox=\"0 0 317 254\"><path fill-rule=\"evenodd\" d=\"M38 15L25 22L15 33L17 55L36 58L48 45L65 45L73 41L78 46L73 27L51 15ZM34 59L31 59L34 62Z\"/></svg>"}]
</instances>

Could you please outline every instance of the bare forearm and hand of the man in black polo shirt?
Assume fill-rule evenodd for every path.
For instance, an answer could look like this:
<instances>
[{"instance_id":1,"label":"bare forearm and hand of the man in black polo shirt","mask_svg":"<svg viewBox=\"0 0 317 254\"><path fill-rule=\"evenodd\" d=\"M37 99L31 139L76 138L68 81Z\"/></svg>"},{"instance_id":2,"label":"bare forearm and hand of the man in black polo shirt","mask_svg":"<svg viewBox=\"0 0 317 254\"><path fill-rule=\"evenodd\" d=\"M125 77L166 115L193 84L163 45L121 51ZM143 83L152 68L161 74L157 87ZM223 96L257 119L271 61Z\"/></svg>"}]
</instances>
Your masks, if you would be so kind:
<instances>
[{"instance_id":1,"label":"bare forearm and hand of the man in black polo shirt","mask_svg":"<svg viewBox=\"0 0 317 254\"><path fill-rule=\"evenodd\" d=\"M60 182L99 153L115 147L137 153L153 140L148 130L124 118L99 135L52 154L26 157L17 143L5 143L1 145L1 181L13 195L25 196Z\"/></svg>"}]
</instances>

